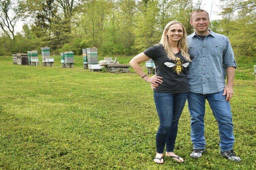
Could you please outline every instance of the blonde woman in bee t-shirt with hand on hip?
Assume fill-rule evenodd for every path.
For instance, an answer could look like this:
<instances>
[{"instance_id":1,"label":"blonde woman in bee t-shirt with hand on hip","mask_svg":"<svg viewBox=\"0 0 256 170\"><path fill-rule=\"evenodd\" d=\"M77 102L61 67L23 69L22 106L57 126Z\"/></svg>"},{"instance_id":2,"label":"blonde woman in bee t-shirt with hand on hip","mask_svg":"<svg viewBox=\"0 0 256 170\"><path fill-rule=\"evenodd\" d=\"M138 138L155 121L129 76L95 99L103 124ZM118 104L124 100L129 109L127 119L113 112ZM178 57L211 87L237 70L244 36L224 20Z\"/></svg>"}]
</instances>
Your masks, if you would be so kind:
<instances>
[{"instance_id":1,"label":"blonde woman in bee t-shirt with hand on hip","mask_svg":"<svg viewBox=\"0 0 256 170\"><path fill-rule=\"evenodd\" d=\"M140 63L152 60L156 66L156 76L148 77L140 67ZM173 153L177 136L178 121L183 111L188 82L186 68L190 62L186 30L181 22L169 22L162 33L159 44L136 55L130 65L140 77L148 83L158 84L154 89L154 101L160 125L156 134L156 157L154 162L163 163L163 149L166 156L177 162L183 158Z\"/></svg>"}]
</instances>

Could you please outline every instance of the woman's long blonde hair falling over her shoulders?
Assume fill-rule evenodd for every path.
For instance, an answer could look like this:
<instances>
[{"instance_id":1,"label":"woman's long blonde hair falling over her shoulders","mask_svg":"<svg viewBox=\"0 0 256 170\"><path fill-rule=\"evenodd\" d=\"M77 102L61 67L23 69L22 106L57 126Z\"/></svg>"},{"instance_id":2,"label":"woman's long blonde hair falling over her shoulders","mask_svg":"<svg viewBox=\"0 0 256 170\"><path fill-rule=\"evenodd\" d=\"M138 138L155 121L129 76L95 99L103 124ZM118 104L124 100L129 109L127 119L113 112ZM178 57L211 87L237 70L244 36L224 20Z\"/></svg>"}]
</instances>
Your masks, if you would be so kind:
<instances>
[{"instance_id":1,"label":"woman's long blonde hair falling over her shoulders","mask_svg":"<svg viewBox=\"0 0 256 170\"><path fill-rule=\"evenodd\" d=\"M169 44L169 40L168 37L166 36L166 31L169 30L170 26L172 24L180 24L183 27L183 36L181 37L181 39L178 41L178 48L181 51L181 54L185 57L186 61L191 62L189 54L188 54L188 44L187 44L187 33L186 30L183 26L183 24L179 21L171 21L169 22L166 26L165 26L165 30L163 30L163 34L162 34L162 38L159 41L160 44L162 44L163 48L165 49L168 58L170 58L171 60L176 60L175 54L172 51L172 47Z\"/></svg>"}]
</instances>

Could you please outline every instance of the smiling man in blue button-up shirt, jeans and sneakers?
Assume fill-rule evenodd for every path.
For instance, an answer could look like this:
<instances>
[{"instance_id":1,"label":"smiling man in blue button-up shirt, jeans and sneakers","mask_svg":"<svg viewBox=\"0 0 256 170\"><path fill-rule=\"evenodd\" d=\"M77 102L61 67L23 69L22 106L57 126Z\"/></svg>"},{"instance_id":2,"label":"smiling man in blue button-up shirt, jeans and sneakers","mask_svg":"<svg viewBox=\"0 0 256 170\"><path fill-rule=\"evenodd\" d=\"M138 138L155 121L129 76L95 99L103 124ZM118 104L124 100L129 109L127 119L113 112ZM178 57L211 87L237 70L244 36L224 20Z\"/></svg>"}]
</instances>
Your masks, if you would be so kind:
<instances>
[{"instance_id":1,"label":"smiling man in blue button-up shirt, jeans and sneakers","mask_svg":"<svg viewBox=\"0 0 256 170\"><path fill-rule=\"evenodd\" d=\"M191 115L191 141L194 145L190 156L199 158L205 149L204 114L207 99L218 122L220 154L228 160L239 162L240 157L233 151L233 123L229 104L233 96L233 80L237 67L233 50L226 36L208 29L209 14L206 11L193 11L190 14L190 24L195 28L195 32L188 36L190 58L193 60L187 72L187 101Z\"/></svg>"}]
</instances>

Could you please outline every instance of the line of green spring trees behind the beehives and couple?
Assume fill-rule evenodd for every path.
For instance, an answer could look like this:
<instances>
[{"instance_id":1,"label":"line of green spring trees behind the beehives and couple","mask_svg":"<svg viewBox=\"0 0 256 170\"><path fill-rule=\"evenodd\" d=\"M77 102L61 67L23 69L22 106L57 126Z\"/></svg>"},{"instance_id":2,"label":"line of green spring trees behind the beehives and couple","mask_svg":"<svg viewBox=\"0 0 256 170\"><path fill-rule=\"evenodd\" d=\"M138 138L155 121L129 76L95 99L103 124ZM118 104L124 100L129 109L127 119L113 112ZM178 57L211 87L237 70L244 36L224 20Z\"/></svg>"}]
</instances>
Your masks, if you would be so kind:
<instances>
[{"instance_id":1,"label":"line of green spring trees behind the beehives and couple","mask_svg":"<svg viewBox=\"0 0 256 170\"><path fill-rule=\"evenodd\" d=\"M221 1L223 19L210 28L229 37L236 55L255 57L256 1ZM157 44L172 20L193 33L189 14L200 6L200 0L0 0L0 55L45 46L52 54L97 47L102 56L134 55ZM22 31L14 34L17 27Z\"/></svg>"}]
</instances>

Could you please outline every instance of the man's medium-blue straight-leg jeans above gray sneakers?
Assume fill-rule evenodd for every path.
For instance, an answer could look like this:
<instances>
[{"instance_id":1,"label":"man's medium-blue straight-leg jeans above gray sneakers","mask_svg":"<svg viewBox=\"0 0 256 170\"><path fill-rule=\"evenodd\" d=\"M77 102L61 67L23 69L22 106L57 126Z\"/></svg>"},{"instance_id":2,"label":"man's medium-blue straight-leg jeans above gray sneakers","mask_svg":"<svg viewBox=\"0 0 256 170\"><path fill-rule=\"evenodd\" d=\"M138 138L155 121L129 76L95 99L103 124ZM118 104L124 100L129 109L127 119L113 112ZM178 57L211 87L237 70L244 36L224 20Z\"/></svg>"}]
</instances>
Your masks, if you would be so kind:
<instances>
[{"instance_id":1,"label":"man's medium-blue straight-leg jeans above gray sneakers","mask_svg":"<svg viewBox=\"0 0 256 170\"><path fill-rule=\"evenodd\" d=\"M233 149L234 135L231 108L229 102L226 101L226 96L222 94L223 91L206 95L189 92L187 101L191 115L191 141L194 149L205 149L206 145L204 138L205 99L208 100L213 115L218 122L221 151L226 152Z\"/></svg>"}]
</instances>

